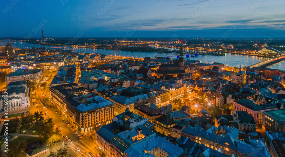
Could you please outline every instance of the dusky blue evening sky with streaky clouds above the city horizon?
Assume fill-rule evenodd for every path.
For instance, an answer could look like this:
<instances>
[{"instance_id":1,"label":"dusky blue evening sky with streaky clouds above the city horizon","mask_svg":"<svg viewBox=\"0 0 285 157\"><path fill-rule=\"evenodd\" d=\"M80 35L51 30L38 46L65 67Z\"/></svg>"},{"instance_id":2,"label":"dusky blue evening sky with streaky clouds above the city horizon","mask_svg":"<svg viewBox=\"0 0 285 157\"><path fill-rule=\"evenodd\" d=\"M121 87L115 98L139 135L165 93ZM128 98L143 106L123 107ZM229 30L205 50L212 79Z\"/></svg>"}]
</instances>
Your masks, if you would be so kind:
<instances>
[{"instance_id":1,"label":"dusky blue evening sky with streaky clouds above the city horizon","mask_svg":"<svg viewBox=\"0 0 285 157\"><path fill-rule=\"evenodd\" d=\"M284 0L1 0L0 37L40 37L34 27L42 19L46 37L78 31L82 37L221 37L229 30L227 37L284 37L284 6Z\"/></svg>"}]
</instances>

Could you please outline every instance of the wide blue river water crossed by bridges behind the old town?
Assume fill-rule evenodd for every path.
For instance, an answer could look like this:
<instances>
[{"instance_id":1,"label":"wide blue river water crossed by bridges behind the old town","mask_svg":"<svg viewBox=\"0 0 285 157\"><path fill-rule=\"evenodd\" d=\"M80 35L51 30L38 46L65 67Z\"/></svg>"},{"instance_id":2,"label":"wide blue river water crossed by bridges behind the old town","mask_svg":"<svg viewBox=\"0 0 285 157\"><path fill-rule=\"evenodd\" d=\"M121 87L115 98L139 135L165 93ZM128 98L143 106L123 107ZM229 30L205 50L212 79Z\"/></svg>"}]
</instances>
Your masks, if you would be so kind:
<instances>
[{"instance_id":1,"label":"wide blue river water crossed by bridges behind the old town","mask_svg":"<svg viewBox=\"0 0 285 157\"><path fill-rule=\"evenodd\" d=\"M11 45L13 47L19 47L23 49L28 49L31 47L39 48L39 47L58 47L58 46L50 46L50 45L38 45L38 44L30 44L20 41L10 41ZM4 46L7 44L7 41L0 41L0 45ZM154 45L151 45L152 47L156 47ZM156 47L158 48L158 47ZM169 48L170 50L174 50L172 48ZM130 51L119 51L119 50L106 50L106 49L90 49L90 48L65 48L65 50L74 50L76 52L80 53L102 53L106 55L115 55L115 56L129 56L129 57L155 57L156 55L160 53L156 52L130 52ZM178 50L178 49L176 49ZM189 50L188 50L189 51ZM176 56L170 57L170 58L176 58ZM242 67L253 65L257 62L261 62L264 60L268 60L270 58L267 57L258 57L258 56L244 56L244 55L236 55L236 54L230 54L226 53L225 56L210 56L210 55L198 55L195 57L186 57L184 56L184 59L190 59L190 60L200 60L201 63L212 63L212 62L220 62L223 63L225 66L234 66L239 67L240 65ZM285 70L285 61L273 64L271 66L268 66L267 68L273 68L273 69L280 69Z\"/></svg>"}]
</instances>

